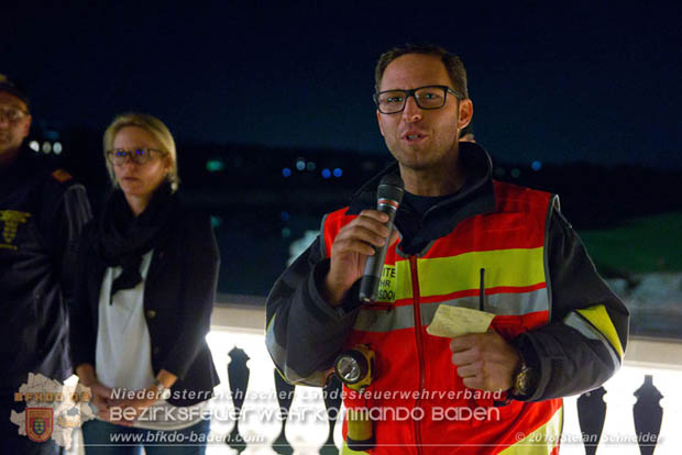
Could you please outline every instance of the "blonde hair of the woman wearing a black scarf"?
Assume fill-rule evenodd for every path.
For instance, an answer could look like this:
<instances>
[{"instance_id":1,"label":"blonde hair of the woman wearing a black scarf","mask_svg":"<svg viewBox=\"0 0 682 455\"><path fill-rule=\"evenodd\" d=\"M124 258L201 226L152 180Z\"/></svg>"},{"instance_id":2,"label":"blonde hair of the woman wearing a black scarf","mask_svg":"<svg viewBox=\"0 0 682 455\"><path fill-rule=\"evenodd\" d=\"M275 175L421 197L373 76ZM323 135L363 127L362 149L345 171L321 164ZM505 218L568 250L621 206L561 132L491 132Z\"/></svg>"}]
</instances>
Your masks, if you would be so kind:
<instances>
[{"instance_id":1,"label":"blonde hair of the woman wearing a black scarf","mask_svg":"<svg viewBox=\"0 0 682 455\"><path fill-rule=\"evenodd\" d=\"M164 122L154 115L136 112L117 115L109 127L107 127L107 131L105 131L105 163L107 163L107 170L109 171L111 184L114 187L119 186L119 182L116 179L116 174L113 173L113 165L109 163L109 159L107 159L107 152L113 147L113 140L119 131L127 126L141 127L150 133L158 143L161 151L170 158L170 170L168 170L166 178L170 182L170 189L175 192L180 179L177 175L177 153L175 151L175 141L173 140L173 135Z\"/></svg>"}]
</instances>

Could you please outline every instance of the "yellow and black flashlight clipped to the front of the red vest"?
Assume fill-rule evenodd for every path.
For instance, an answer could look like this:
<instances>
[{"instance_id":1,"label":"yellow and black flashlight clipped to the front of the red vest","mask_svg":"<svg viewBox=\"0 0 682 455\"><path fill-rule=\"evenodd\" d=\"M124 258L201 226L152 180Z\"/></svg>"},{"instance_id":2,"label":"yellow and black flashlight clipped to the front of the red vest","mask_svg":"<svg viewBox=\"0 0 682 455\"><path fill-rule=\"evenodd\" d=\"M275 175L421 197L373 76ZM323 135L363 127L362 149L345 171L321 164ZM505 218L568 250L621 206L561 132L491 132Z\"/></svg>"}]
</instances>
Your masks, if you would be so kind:
<instances>
[{"instance_id":1,"label":"yellow and black flashlight clipped to the front of the red vest","mask_svg":"<svg viewBox=\"0 0 682 455\"><path fill-rule=\"evenodd\" d=\"M366 344L339 354L334 362L334 373L345 386L362 392L374 379L374 351ZM352 451L365 451L374 446L374 424L366 408L346 410L346 444Z\"/></svg>"}]
</instances>

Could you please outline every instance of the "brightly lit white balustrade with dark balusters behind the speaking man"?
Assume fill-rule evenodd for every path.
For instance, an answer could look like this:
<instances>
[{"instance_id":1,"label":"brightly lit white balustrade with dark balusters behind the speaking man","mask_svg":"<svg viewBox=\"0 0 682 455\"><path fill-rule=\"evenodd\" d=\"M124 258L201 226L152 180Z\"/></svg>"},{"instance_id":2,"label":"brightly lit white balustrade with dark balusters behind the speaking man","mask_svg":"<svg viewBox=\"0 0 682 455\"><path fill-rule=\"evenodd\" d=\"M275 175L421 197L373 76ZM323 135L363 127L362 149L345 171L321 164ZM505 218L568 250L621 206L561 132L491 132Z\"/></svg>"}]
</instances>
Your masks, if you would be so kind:
<instances>
[{"instance_id":1,"label":"brightly lit white balustrade with dark balusters behind the speaking man","mask_svg":"<svg viewBox=\"0 0 682 455\"><path fill-rule=\"evenodd\" d=\"M339 415L340 401L326 403L321 389L294 389L278 378L265 348L264 324L263 307L215 309L207 341L221 384L211 402L216 442L207 453L337 453L341 424L329 415ZM682 343L631 339L624 366L604 387L564 399L560 453L678 454L681 382ZM69 453L82 453L76 440Z\"/></svg>"}]
</instances>

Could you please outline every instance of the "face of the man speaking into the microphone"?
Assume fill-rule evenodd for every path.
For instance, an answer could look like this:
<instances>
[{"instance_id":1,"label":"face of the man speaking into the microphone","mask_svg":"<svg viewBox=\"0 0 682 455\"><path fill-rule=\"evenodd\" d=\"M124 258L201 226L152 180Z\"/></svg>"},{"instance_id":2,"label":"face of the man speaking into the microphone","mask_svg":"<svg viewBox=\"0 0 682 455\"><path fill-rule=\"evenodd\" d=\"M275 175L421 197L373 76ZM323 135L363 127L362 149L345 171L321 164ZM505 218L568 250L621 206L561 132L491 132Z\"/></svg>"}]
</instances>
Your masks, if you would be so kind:
<instances>
[{"instance_id":1,"label":"face of the man speaking into the microphone","mask_svg":"<svg viewBox=\"0 0 682 455\"><path fill-rule=\"evenodd\" d=\"M439 57L407 54L386 67L381 91L424 86L452 87L452 81ZM457 163L458 133L469 124L471 114L471 101L458 101L451 93L441 109L420 109L415 98L409 97L403 112L383 114L376 111L386 146L403 168L413 170Z\"/></svg>"}]
</instances>

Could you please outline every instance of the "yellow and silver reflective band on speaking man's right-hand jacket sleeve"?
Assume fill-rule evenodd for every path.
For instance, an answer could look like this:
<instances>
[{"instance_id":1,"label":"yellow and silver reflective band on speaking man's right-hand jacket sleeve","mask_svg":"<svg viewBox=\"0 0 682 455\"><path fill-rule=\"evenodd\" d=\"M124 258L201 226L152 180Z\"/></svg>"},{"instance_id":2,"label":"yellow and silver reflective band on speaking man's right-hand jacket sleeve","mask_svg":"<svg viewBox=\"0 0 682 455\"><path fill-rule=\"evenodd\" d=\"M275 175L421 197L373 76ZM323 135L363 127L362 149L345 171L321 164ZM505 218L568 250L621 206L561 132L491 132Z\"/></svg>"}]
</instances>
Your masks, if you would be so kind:
<instances>
[{"instance_id":1,"label":"yellow and silver reflective band on speaking man's right-hand jacket sleeve","mask_svg":"<svg viewBox=\"0 0 682 455\"><path fill-rule=\"evenodd\" d=\"M603 304L571 311L563 320L563 323L575 329L590 340L602 342L614 357L614 366L620 365L623 360L623 345L618 337L618 332L614 326L608 312Z\"/></svg>"}]
</instances>

